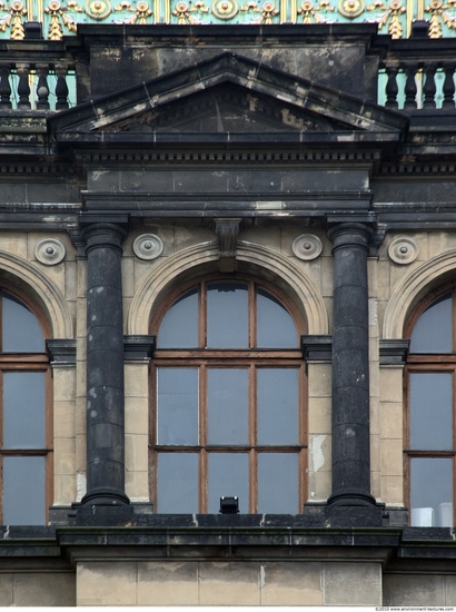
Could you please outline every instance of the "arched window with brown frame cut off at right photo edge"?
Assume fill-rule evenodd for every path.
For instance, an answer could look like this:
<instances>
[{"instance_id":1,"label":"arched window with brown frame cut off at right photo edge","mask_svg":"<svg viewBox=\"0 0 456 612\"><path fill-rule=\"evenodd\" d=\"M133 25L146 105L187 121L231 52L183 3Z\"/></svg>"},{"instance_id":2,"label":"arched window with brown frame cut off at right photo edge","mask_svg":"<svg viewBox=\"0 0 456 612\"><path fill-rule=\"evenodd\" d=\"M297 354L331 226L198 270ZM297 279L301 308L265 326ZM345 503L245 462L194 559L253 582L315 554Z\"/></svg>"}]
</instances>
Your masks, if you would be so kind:
<instances>
[{"instance_id":1,"label":"arched window with brown frame cut off at right photo edge","mask_svg":"<svg viewBox=\"0 0 456 612\"><path fill-rule=\"evenodd\" d=\"M434 293L408 329L406 473L415 526L454 525L455 307L454 288Z\"/></svg>"}]
</instances>

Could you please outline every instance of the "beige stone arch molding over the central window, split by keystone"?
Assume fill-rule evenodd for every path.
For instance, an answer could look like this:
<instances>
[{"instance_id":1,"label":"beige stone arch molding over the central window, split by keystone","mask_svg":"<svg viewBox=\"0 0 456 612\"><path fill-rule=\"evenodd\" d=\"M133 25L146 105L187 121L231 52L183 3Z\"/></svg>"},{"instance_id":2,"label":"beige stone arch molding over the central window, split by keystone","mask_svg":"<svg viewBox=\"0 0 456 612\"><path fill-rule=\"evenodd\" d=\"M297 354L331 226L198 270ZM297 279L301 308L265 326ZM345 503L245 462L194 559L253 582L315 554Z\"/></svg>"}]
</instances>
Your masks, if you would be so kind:
<instances>
[{"instance_id":1,"label":"beige stone arch molding over the central window, split by keystone","mask_svg":"<svg viewBox=\"0 0 456 612\"><path fill-rule=\"evenodd\" d=\"M179 285L182 276L188 280L202 272L217 270L219 257L217 243L202 243L172 255L155 268L142 280L131 302L127 333L148 334L151 316L162 297ZM256 275L279 287L307 322L309 335L328 334L328 313L321 294L294 261L267 247L239 240L236 263L239 272Z\"/></svg>"}]
</instances>

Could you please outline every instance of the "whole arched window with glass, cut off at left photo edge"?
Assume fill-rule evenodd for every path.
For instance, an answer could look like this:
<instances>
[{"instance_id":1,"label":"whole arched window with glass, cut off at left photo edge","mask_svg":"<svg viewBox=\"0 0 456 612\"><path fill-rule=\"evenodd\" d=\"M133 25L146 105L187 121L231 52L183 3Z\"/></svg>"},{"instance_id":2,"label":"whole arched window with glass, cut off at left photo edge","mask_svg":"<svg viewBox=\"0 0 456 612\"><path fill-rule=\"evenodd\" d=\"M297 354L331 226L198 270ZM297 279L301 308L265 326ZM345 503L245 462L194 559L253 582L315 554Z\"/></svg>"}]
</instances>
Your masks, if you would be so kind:
<instances>
[{"instance_id":1,"label":"whole arched window with glass, cut off at left photo edge","mask_svg":"<svg viewBox=\"0 0 456 612\"><path fill-rule=\"evenodd\" d=\"M1 523L47 523L52 438L41 324L22 296L0 289Z\"/></svg>"}]
</instances>

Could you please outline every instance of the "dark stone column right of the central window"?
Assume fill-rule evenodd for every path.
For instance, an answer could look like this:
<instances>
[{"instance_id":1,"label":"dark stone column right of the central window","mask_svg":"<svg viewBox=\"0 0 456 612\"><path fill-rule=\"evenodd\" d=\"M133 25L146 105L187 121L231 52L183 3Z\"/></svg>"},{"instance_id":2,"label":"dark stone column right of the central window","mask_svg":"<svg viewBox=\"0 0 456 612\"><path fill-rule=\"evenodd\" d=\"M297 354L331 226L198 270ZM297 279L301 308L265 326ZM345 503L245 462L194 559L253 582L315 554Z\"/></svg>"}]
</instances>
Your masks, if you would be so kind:
<instances>
[{"instance_id":1,"label":"dark stone column right of the central window","mask_svg":"<svg viewBox=\"0 0 456 612\"><path fill-rule=\"evenodd\" d=\"M329 229L334 255L333 493L328 504L375 505L370 494L367 256L373 230Z\"/></svg>"}]
</instances>

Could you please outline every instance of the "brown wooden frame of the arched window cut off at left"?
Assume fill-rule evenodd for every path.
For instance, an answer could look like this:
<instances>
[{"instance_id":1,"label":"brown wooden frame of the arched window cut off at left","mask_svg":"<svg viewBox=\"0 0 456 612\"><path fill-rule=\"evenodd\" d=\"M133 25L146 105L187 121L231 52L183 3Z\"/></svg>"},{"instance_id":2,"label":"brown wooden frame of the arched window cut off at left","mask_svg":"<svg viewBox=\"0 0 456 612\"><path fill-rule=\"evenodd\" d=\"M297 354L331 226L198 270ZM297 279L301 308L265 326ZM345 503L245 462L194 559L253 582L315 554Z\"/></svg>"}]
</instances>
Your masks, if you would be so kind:
<instances>
[{"instance_id":1,"label":"brown wooden frame of the arched window cut off at left","mask_svg":"<svg viewBox=\"0 0 456 612\"><path fill-rule=\"evenodd\" d=\"M36 307L27 294L11 289L0 288L0 298L3 294L10 295L36 317L41 327L43 337L42 353L3 353L2 346L2 299L0 299L0 521L3 523L3 460L10 456L46 457L44 462L44 521L49 522L49 507L53 497L53 412L52 412L52 374L49 364L49 356L46 352L46 338L51 336L50 326L42 313ZM3 448L3 374L11 372L42 372L44 374L44 446L37 448Z\"/></svg>"}]
</instances>

